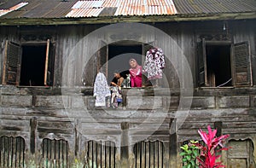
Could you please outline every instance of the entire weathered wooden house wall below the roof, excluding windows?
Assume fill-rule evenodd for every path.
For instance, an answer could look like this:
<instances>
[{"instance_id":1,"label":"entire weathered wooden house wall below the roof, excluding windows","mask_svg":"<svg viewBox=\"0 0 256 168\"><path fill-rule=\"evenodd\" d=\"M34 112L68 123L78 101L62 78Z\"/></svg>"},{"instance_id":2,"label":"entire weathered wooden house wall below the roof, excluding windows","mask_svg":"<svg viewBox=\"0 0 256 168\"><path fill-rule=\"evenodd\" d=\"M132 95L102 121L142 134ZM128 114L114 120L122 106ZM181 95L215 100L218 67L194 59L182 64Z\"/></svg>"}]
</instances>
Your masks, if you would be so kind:
<instances>
[{"instance_id":1,"label":"entire weathered wooden house wall below the roof, excluding windows","mask_svg":"<svg viewBox=\"0 0 256 168\"><path fill-rule=\"evenodd\" d=\"M240 21L234 21L230 22L229 26L234 42L239 43L249 40L251 43L251 51L254 56L253 79L255 80L254 22L253 20L247 20L242 25ZM179 63L177 66L181 66L183 61L177 56L179 54L185 55L189 61L196 86L196 44L199 41L198 37L205 32L210 34L219 32L216 30L222 30L223 22L205 21L152 25L160 28L172 38L151 34L145 40L148 42L155 41L156 45L164 50L170 49L171 56L173 55L173 59ZM244 28L245 25L247 29ZM116 144L118 148L116 148L114 157L117 167L125 164L134 165L135 153L133 146L119 148L119 145L127 141L135 142L139 137L148 136L147 141L159 140L163 143L164 167L181 167L181 159L178 157L181 143L189 139L199 139L196 130L206 128L207 125L217 127L222 134L230 134L230 140L248 140L248 143L253 142L255 146L256 91L254 87L195 89L189 115L183 125L177 128L174 123L177 120L175 112L180 100L180 93L177 90L179 88L177 75L171 66L171 62L167 62L165 69L167 83L163 84L166 87L170 86L171 90L166 88L155 89L154 91L140 89L137 90L139 95L138 92L124 90L124 108L110 110L107 113L102 108L94 107L95 98L92 96L91 88L87 88L86 94L83 95L80 89L76 87L82 85L81 77L83 77L84 72L86 74L86 84L89 86L93 84L96 75L96 59L92 56L90 64L85 67L85 70L84 60L88 53L89 56L95 54L88 52L88 48L97 49L98 42L102 38L99 34L99 36L88 38L83 43L79 43L79 41L102 26L104 25L51 27L55 36L53 39L53 43L55 43L54 87L39 89L0 86L0 136L21 136L24 138L26 164L32 162L32 160L36 160L36 164L43 164L44 138L50 140L64 139L68 142L68 164L75 162L75 158L84 163L84 156L87 151L95 150L92 147L96 147L96 145L93 143L90 146L90 140L96 137L97 140L108 140ZM33 27L32 29L38 28ZM0 30L2 44L0 70L3 72L2 60L5 40L19 42L20 27L2 26ZM72 59L69 60L70 55ZM73 55L75 56L73 57ZM62 72L65 72L63 74L67 76L63 77ZM188 74L183 74L183 78L188 78L186 75ZM60 88L61 86L63 87ZM71 88L66 88L66 86ZM191 97L186 98L189 100ZM138 109L135 109L135 107L138 107ZM87 109L86 113L84 109ZM149 115L159 117L163 112L166 112L166 119L160 123L154 121L154 118L153 120L146 120ZM119 117L114 117L109 113L116 114ZM124 116L124 113L125 115L129 114L129 117ZM137 126L142 124L143 121L146 121L145 124L137 129ZM159 124L159 129L154 131L154 126ZM240 142L234 143L231 141L230 144L240 145ZM243 145L242 143L240 146L243 147ZM113 151L113 148L111 150ZM255 151L250 150L250 153L254 154L251 154L253 155L251 160L254 160L254 162ZM64 154L63 151L62 153ZM145 155L148 157L147 154ZM90 154L90 157L93 156ZM234 154L232 155L231 151L227 156L233 157ZM226 164L230 164L230 160L235 159L236 157L223 158ZM54 162L54 159L50 161ZM235 161L239 162L240 160ZM253 162L250 161L250 163ZM231 164L229 166L232 167ZM247 165L240 166L246 167Z\"/></svg>"}]
</instances>

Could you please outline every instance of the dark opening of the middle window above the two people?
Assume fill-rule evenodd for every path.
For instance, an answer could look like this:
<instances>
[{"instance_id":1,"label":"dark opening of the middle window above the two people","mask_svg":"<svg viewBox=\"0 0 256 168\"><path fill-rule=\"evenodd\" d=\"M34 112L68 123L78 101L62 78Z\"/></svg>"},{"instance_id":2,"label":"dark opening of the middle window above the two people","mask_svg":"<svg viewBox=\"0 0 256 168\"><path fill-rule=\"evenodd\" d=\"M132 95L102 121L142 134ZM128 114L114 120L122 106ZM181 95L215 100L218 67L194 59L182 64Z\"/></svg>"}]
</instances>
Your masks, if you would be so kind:
<instances>
[{"instance_id":1,"label":"dark opening of the middle window above the two people","mask_svg":"<svg viewBox=\"0 0 256 168\"><path fill-rule=\"evenodd\" d=\"M109 45L108 46L108 83L113 79L113 72L130 69L131 58L137 60L139 65L143 64L143 46L136 45Z\"/></svg>"}]
</instances>

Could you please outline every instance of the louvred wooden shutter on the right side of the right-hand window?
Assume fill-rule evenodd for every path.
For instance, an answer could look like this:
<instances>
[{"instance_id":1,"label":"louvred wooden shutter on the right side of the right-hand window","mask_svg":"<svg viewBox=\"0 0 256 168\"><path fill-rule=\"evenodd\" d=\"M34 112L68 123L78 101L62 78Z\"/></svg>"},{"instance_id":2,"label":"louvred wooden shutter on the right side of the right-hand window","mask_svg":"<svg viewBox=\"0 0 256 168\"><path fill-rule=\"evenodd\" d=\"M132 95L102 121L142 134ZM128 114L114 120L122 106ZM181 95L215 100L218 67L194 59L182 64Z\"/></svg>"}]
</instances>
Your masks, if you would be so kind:
<instances>
[{"instance_id":1,"label":"louvred wooden shutter on the right side of the right-hand window","mask_svg":"<svg viewBox=\"0 0 256 168\"><path fill-rule=\"evenodd\" d=\"M235 86L250 86L252 80L252 65L248 42L236 43L233 46L233 82Z\"/></svg>"}]
</instances>

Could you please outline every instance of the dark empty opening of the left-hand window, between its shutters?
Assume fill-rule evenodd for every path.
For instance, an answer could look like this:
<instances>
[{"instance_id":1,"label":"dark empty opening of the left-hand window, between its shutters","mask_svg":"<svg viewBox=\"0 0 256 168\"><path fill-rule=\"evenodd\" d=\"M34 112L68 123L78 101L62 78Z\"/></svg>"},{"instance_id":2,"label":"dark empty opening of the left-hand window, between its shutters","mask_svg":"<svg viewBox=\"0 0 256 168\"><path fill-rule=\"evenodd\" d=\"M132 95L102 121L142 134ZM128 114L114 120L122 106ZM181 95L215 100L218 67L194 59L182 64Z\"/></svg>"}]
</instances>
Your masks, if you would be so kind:
<instances>
[{"instance_id":1,"label":"dark empty opening of the left-hand window, between its shutters","mask_svg":"<svg viewBox=\"0 0 256 168\"><path fill-rule=\"evenodd\" d=\"M20 85L44 86L45 45L22 47Z\"/></svg>"}]
</instances>

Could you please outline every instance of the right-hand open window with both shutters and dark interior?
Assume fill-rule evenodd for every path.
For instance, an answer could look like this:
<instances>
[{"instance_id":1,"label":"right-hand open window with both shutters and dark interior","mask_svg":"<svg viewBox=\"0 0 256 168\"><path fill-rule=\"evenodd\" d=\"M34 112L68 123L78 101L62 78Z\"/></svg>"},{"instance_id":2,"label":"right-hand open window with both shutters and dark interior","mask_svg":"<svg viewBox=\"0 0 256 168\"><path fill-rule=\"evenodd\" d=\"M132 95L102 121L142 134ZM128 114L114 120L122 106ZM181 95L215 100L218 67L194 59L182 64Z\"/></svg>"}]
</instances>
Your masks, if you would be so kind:
<instances>
[{"instance_id":1,"label":"right-hand open window with both shutters and dark interior","mask_svg":"<svg viewBox=\"0 0 256 168\"><path fill-rule=\"evenodd\" d=\"M249 86L252 83L248 43L212 42L198 46L199 86Z\"/></svg>"}]
</instances>

